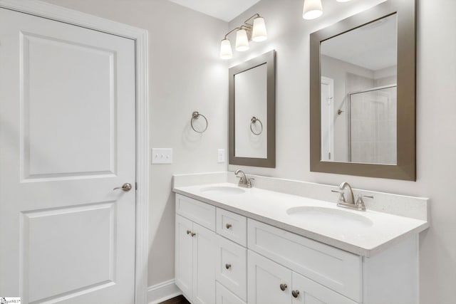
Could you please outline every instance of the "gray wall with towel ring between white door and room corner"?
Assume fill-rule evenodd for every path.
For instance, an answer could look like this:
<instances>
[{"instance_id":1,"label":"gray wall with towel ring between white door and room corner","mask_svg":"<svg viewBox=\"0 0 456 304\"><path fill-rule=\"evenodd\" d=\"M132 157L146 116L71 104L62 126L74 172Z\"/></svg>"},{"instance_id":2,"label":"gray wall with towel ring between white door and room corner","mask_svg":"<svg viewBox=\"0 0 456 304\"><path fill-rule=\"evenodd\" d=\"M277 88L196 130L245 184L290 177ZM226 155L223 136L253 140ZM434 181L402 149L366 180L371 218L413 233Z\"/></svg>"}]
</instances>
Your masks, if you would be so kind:
<instances>
[{"instance_id":1,"label":"gray wall with towel ring between white door and room corner","mask_svg":"<svg viewBox=\"0 0 456 304\"><path fill-rule=\"evenodd\" d=\"M150 147L172 147L173 164L151 166L149 285L174 278L174 173L226 171L228 69L219 60L227 23L167 0L47 0L149 31ZM190 130L198 110L209 120Z\"/></svg>"}]
</instances>

